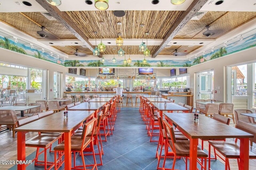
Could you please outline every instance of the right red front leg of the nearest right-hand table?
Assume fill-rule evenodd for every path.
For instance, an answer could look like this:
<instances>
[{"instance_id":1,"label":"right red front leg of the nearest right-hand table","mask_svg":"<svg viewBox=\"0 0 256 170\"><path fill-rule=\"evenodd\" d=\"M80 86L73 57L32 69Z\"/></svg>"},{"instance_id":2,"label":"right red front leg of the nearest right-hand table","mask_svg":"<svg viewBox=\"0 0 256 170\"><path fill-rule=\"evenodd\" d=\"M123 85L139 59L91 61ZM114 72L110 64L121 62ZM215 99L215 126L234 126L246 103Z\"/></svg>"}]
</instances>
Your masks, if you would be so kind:
<instances>
[{"instance_id":1,"label":"right red front leg of the nearest right-hand table","mask_svg":"<svg viewBox=\"0 0 256 170\"><path fill-rule=\"evenodd\" d=\"M249 138L240 138L240 164L241 170L249 169Z\"/></svg>"}]
</instances>

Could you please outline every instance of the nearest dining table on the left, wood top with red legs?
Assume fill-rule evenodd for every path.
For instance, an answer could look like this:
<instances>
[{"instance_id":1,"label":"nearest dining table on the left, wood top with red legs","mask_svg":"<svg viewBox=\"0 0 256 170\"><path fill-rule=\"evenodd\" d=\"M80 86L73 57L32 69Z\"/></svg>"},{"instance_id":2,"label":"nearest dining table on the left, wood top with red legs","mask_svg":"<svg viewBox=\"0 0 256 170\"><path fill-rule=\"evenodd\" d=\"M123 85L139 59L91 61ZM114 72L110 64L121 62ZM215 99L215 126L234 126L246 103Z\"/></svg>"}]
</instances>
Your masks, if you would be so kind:
<instances>
[{"instance_id":1,"label":"nearest dining table on the left, wood top with red legs","mask_svg":"<svg viewBox=\"0 0 256 170\"><path fill-rule=\"evenodd\" d=\"M71 169L71 135L94 111L68 111L68 119L64 119L64 111L38 119L14 130L18 132L17 160L26 160L26 132L64 132L65 169ZM18 164L18 170L25 170L25 164Z\"/></svg>"}]
</instances>

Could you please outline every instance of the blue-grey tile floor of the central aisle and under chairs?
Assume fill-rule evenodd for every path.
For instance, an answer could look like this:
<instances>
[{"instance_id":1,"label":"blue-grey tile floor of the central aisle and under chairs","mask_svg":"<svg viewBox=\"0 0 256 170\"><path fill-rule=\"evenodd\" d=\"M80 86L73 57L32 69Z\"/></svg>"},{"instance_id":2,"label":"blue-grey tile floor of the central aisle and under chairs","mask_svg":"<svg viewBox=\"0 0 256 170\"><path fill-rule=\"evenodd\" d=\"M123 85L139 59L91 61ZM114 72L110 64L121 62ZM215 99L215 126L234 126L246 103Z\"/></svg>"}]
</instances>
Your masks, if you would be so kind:
<instances>
[{"instance_id":1,"label":"blue-grey tile floor of the central aisle and under chairs","mask_svg":"<svg viewBox=\"0 0 256 170\"><path fill-rule=\"evenodd\" d=\"M98 170L156 170L157 143L150 143L150 137L145 129L146 125L140 118L137 108L122 108L118 113L114 125L113 135L107 137L107 142L103 142L104 155L102 156L103 166L98 166ZM34 158L30 154L27 159ZM54 159L54 154L48 156L49 160ZM80 156L78 156L78 161ZM86 163L92 162L92 156L85 156ZM96 156L96 159L99 158ZM78 163L79 164L79 163ZM166 167L171 168L172 160L167 160ZM182 159L176 161L176 169L185 170L185 163ZM212 160L212 170L222 170L224 165L218 160ZM36 167L34 164L27 167L28 170L41 170L43 167ZM16 166L10 168L16 170Z\"/></svg>"}]
</instances>

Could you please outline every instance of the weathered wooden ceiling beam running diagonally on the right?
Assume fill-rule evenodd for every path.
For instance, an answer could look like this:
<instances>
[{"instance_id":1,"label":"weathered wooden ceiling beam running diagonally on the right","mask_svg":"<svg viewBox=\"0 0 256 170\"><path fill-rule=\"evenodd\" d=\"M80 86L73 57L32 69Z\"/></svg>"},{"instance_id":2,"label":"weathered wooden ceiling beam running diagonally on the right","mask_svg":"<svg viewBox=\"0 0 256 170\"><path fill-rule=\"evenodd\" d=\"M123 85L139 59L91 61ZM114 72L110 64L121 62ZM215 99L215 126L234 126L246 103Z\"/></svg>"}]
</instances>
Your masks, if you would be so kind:
<instances>
[{"instance_id":1,"label":"weathered wooden ceiling beam running diagonally on the right","mask_svg":"<svg viewBox=\"0 0 256 170\"><path fill-rule=\"evenodd\" d=\"M174 23L170 30L166 33L164 41L157 47L157 49L152 53L152 58L155 58L168 43L174 38L174 36L186 25L188 21L198 12L202 6L208 0L194 0L186 11L183 11L179 19Z\"/></svg>"}]
</instances>

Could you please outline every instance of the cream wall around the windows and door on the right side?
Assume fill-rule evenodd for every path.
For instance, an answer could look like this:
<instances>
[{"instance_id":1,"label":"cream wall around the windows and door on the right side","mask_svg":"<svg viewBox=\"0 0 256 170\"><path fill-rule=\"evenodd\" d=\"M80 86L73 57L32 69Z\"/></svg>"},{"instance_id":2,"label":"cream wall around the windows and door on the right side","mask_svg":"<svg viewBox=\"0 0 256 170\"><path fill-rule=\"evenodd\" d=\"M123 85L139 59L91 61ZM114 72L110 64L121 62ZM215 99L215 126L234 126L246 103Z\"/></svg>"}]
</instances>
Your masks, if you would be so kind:
<instances>
[{"instance_id":1,"label":"cream wall around the windows and door on the right side","mask_svg":"<svg viewBox=\"0 0 256 170\"><path fill-rule=\"evenodd\" d=\"M220 94L214 93L214 99L226 102L226 66L249 63L256 61L256 47L240 51L231 55L227 55L212 61L207 61L205 63L200 63L195 66L188 68L188 73L190 75L190 89L191 92L195 92L196 88L196 72L201 72L204 70L214 70L214 90L216 87L220 86ZM194 100L196 96L194 94Z\"/></svg>"}]
</instances>

